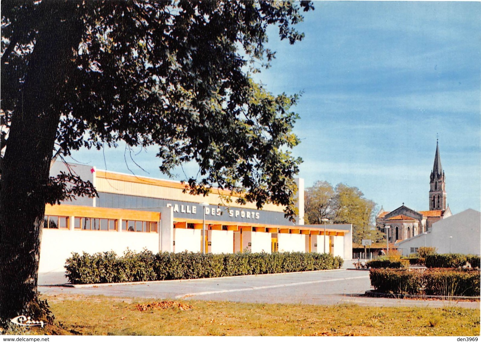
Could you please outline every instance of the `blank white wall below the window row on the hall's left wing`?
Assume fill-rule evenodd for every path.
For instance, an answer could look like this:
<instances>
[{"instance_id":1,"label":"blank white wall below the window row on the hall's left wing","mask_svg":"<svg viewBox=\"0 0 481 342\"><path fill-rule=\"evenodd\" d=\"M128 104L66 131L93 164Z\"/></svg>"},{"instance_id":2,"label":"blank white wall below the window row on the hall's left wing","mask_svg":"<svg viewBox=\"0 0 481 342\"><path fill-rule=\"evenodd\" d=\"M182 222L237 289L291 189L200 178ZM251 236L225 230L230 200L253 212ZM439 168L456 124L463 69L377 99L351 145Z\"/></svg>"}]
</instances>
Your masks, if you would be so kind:
<instances>
[{"instance_id":1,"label":"blank white wall below the window row on the hall's left wing","mask_svg":"<svg viewBox=\"0 0 481 342\"><path fill-rule=\"evenodd\" d=\"M72 252L82 254L110 252L123 255L128 249L159 251L158 233L99 230L43 229L38 272L64 272L65 260Z\"/></svg>"}]
</instances>

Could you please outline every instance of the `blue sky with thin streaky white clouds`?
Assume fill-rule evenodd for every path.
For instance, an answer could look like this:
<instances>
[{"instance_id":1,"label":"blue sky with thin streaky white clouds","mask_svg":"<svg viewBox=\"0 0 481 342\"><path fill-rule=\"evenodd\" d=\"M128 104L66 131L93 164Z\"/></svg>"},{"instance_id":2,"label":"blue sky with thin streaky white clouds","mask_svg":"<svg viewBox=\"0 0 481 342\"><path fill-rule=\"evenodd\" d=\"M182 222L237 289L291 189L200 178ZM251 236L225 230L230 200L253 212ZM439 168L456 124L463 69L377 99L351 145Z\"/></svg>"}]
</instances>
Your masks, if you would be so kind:
<instances>
[{"instance_id":1,"label":"blue sky with thin streaky white clouds","mask_svg":"<svg viewBox=\"0 0 481 342\"><path fill-rule=\"evenodd\" d=\"M436 139L453 214L481 207L480 2L315 1L280 41L257 81L274 94L302 92L294 132L299 177L357 187L392 211L429 210ZM155 148L79 151L99 169L165 178ZM184 168L189 173L191 168ZM196 169L195 169L196 170ZM194 173L195 174L195 173ZM185 179L182 171L177 180Z\"/></svg>"}]
</instances>

